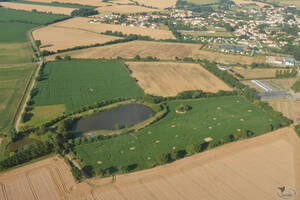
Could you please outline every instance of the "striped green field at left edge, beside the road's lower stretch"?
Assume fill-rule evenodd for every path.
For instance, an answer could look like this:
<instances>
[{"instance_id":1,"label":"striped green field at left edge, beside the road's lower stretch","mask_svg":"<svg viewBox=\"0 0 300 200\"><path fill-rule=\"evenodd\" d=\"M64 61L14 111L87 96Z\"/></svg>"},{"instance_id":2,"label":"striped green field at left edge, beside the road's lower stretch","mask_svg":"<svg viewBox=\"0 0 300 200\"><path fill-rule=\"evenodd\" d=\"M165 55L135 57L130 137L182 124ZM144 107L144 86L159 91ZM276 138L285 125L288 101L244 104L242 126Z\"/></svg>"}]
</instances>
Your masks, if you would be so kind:
<instances>
[{"instance_id":1,"label":"striped green field at left edge, beside the road's lower stretch","mask_svg":"<svg viewBox=\"0 0 300 200\"><path fill-rule=\"evenodd\" d=\"M33 69L33 64L0 67L0 131L11 124Z\"/></svg>"}]
</instances>

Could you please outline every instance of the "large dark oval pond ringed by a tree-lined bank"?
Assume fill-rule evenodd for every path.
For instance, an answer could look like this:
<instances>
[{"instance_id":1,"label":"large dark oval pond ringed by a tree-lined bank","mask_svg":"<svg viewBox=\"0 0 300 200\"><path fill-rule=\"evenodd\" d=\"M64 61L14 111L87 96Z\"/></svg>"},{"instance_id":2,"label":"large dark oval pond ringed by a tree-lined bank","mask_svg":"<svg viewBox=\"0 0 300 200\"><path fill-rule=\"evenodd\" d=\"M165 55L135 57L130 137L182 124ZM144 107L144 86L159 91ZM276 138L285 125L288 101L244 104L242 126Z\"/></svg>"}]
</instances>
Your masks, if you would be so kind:
<instances>
[{"instance_id":1,"label":"large dark oval pond ringed by a tree-lined bank","mask_svg":"<svg viewBox=\"0 0 300 200\"><path fill-rule=\"evenodd\" d=\"M117 130L132 127L154 114L151 108L141 104L121 105L87 117L82 117L74 127L75 132L93 130Z\"/></svg>"}]
</instances>

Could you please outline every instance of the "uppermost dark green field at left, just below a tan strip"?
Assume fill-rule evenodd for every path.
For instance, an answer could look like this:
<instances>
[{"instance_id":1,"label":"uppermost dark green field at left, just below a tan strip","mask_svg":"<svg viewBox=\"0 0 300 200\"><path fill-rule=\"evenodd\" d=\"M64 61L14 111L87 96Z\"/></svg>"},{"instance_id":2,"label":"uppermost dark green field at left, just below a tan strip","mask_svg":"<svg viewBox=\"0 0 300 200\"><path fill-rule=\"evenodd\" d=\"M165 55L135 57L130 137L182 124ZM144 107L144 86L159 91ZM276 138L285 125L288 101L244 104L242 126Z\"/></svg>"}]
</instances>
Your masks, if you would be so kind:
<instances>
[{"instance_id":1,"label":"uppermost dark green field at left, just below a tan strip","mask_svg":"<svg viewBox=\"0 0 300 200\"><path fill-rule=\"evenodd\" d=\"M57 20L67 18L65 15L53 15L47 13L36 13L27 12L21 10L12 10L6 8L0 8L0 21L1 22L23 22L23 23L33 23L33 24L48 24ZM14 28L14 25L10 27ZM1 29L2 32L2 29ZM13 33L12 33L13 34Z\"/></svg>"}]
</instances>

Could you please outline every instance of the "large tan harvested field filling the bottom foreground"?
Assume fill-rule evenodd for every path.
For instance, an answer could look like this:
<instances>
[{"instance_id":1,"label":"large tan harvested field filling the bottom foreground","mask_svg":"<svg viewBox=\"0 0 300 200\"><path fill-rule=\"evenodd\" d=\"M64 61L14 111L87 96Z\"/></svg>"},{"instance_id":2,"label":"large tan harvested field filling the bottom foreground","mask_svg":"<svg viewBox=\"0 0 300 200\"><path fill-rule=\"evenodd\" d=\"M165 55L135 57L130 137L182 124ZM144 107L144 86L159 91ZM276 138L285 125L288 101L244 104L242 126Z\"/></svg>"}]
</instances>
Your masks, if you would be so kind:
<instances>
[{"instance_id":1,"label":"large tan harvested field filling the bottom foreground","mask_svg":"<svg viewBox=\"0 0 300 200\"><path fill-rule=\"evenodd\" d=\"M287 127L161 167L118 175L111 184L111 178L76 184L64 161L52 157L2 174L0 199L280 200L278 187L300 190L299 169L300 139Z\"/></svg>"}]
</instances>

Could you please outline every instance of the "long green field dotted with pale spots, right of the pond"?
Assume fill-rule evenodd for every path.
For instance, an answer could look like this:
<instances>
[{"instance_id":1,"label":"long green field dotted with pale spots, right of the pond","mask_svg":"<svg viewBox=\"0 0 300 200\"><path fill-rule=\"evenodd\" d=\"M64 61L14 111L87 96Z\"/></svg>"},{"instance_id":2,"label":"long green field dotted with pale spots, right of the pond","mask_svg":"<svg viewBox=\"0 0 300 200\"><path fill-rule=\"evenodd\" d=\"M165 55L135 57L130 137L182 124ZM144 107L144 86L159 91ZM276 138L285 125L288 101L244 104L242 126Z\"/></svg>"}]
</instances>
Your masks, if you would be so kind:
<instances>
[{"instance_id":1,"label":"long green field dotted with pale spots, right of the pond","mask_svg":"<svg viewBox=\"0 0 300 200\"><path fill-rule=\"evenodd\" d=\"M180 104L190 105L192 110L177 114L175 108ZM218 141L230 134L245 134L246 130L259 135L270 131L270 124L279 123L241 97L178 101L168 105L170 112L165 118L134 136L122 135L75 146L77 156L94 169L133 164L138 165L137 169L144 169L153 166L162 153L185 150L187 145L203 143L207 137Z\"/></svg>"}]
</instances>

